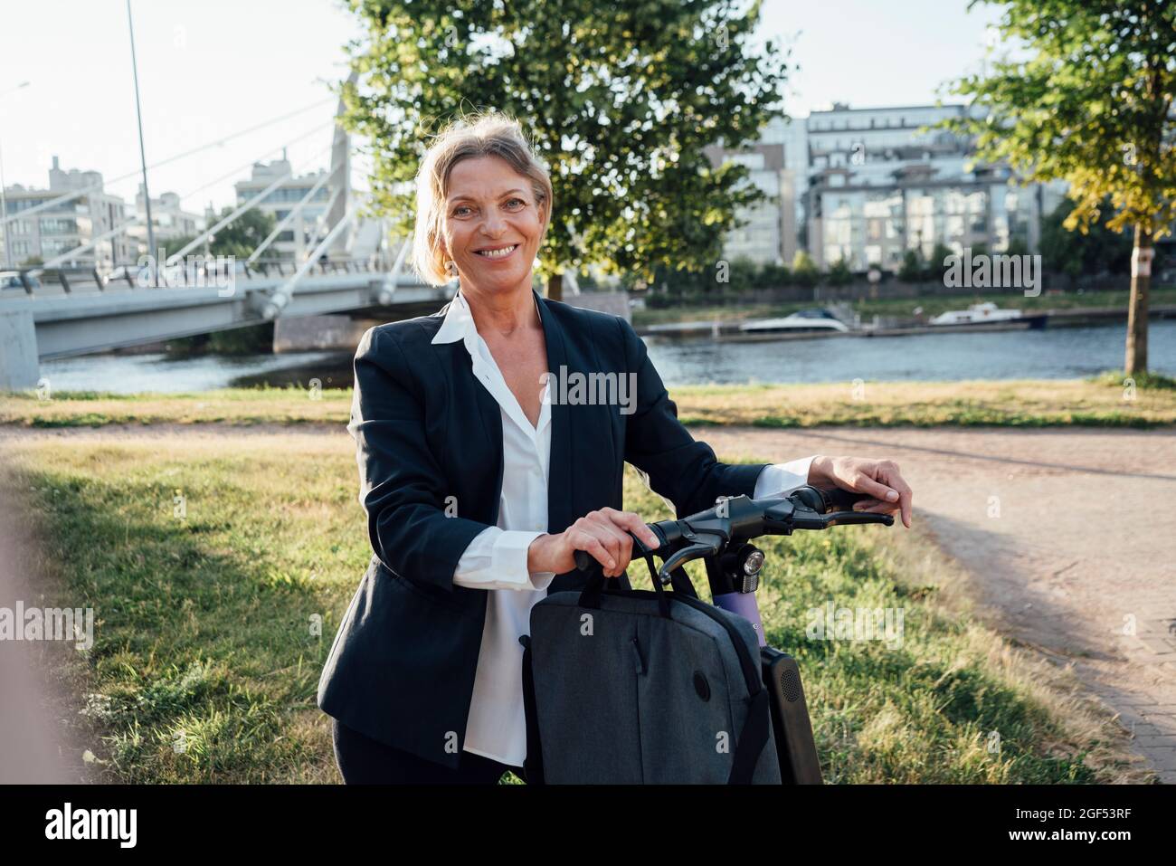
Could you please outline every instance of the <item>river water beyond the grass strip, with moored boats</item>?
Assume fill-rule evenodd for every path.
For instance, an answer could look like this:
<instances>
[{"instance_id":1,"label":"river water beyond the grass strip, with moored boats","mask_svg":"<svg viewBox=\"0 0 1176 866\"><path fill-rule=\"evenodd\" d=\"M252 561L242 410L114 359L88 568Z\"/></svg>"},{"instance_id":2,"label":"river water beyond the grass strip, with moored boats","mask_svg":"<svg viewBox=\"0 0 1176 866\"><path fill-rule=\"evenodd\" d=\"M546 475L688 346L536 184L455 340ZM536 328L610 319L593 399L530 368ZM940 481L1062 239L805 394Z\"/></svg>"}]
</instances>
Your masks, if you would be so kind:
<instances>
[{"instance_id":1,"label":"river water beyond the grass strip, with moored boats","mask_svg":"<svg viewBox=\"0 0 1176 866\"><path fill-rule=\"evenodd\" d=\"M1176 375L1176 321L1148 328L1149 368ZM1124 326L770 342L647 338L668 386L864 380L1075 379L1123 367ZM54 391L207 391L230 385L349 387L352 353L298 352L182 360L102 354L41 362Z\"/></svg>"}]
</instances>

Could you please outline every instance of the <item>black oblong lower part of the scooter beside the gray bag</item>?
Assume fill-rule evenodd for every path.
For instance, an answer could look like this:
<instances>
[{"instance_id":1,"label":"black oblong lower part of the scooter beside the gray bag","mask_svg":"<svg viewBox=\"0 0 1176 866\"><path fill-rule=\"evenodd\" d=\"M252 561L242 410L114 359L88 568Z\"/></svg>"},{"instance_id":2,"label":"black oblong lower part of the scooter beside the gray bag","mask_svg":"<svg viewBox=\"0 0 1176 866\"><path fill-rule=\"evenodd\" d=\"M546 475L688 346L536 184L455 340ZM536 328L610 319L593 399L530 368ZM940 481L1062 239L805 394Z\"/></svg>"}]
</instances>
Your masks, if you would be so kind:
<instances>
[{"instance_id":1,"label":"black oblong lower part of the scooter beside the gray bag","mask_svg":"<svg viewBox=\"0 0 1176 866\"><path fill-rule=\"evenodd\" d=\"M823 784L796 659L775 647L761 646L760 661L763 685L770 695L781 781L784 785Z\"/></svg>"}]
</instances>

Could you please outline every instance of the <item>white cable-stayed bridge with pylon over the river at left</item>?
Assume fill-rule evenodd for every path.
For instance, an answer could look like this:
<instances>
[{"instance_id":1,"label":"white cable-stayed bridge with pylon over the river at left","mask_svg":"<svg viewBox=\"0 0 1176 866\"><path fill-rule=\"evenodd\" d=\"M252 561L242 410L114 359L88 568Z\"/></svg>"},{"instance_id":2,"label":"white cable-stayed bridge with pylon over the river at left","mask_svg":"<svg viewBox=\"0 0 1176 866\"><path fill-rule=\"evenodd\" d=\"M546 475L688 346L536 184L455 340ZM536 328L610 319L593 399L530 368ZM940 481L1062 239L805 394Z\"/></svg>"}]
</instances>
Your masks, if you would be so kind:
<instances>
[{"instance_id":1,"label":"white cable-stayed bridge with pylon over the river at left","mask_svg":"<svg viewBox=\"0 0 1176 866\"><path fill-rule=\"evenodd\" d=\"M40 361L46 359L247 327L279 317L334 313L403 319L433 312L452 298L456 281L429 286L408 272L409 238L389 245L383 220L358 215L362 202L350 188L350 141L338 121L341 112L342 105L336 112L329 173L245 262L218 269L211 260L207 267L194 267L186 257L205 246L215 232L255 208L293 176L293 171L242 202L182 249L167 255L166 262L151 262L146 268L127 265L106 274L71 266L79 254L126 232L138 221L132 218L34 268L4 272L0 389L35 387ZM328 180L334 181L333 195L320 238L305 260L263 258L274 239ZM7 224L18 215L28 216L86 192L67 193L15 215L0 213L0 220Z\"/></svg>"}]
</instances>

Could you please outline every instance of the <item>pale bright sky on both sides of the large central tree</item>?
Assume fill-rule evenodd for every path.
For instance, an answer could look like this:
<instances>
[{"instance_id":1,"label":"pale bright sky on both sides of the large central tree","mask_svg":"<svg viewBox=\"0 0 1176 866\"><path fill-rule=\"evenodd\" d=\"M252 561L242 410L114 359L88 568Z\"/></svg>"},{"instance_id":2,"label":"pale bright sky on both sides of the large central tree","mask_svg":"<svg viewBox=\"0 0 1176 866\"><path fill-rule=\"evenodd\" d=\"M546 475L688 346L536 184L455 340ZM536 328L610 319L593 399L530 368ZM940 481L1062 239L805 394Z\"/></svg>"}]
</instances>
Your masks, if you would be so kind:
<instances>
[{"instance_id":1,"label":"pale bright sky on both sides of the large central tree","mask_svg":"<svg viewBox=\"0 0 1176 866\"><path fill-rule=\"evenodd\" d=\"M934 102L974 71L994 8L967 0L764 0L760 39L794 47L786 109ZM132 0L152 166L276 118L199 154L149 168L152 196L179 193L203 213L235 200L233 181L288 146L294 168L325 168L345 45L359 35L340 0ZM61 167L95 169L128 201L139 136L126 0L0 0L0 160L7 185L48 186ZM19 87L28 81L26 87ZM366 166L355 165L362 182ZM122 180L116 180L121 175Z\"/></svg>"}]
</instances>

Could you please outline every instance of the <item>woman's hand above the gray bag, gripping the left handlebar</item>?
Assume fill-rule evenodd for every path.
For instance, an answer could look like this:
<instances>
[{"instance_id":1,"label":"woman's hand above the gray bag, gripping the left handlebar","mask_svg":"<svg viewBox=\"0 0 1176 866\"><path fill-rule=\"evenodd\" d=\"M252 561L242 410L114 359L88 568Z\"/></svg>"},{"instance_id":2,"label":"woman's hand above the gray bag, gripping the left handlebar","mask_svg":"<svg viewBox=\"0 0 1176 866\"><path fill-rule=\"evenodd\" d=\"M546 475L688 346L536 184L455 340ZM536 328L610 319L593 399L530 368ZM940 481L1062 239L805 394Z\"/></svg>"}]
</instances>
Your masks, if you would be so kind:
<instances>
[{"instance_id":1,"label":"woman's hand above the gray bag, gripping the left handlebar","mask_svg":"<svg viewBox=\"0 0 1176 866\"><path fill-rule=\"evenodd\" d=\"M630 532L650 548L661 544L646 521L632 511L589 512L563 532L532 541L527 548L527 569L563 574L576 567L576 551L586 551L601 564L606 578L615 578L624 572L633 555Z\"/></svg>"}]
</instances>

